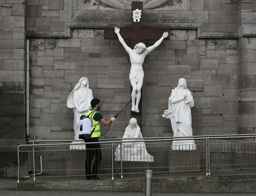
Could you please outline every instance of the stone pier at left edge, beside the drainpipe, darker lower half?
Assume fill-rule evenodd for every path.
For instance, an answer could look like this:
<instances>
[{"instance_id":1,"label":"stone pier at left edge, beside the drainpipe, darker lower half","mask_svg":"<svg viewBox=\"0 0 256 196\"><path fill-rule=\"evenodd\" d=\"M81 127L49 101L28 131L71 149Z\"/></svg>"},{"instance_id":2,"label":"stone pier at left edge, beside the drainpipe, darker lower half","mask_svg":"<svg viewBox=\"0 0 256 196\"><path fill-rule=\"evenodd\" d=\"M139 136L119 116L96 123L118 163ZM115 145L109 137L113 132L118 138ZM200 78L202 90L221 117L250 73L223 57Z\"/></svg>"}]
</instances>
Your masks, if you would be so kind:
<instances>
[{"instance_id":1,"label":"stone pier at left edge, beside the drainpipe, darker lower half","mask_svg":"<svg viewBox=\"0 0 256 196\"><path fill-rule=\"evenodd\" d=\"M25 1L0 0L0 176L17 175L25 140Z\"/></svg>"}]
</instances>

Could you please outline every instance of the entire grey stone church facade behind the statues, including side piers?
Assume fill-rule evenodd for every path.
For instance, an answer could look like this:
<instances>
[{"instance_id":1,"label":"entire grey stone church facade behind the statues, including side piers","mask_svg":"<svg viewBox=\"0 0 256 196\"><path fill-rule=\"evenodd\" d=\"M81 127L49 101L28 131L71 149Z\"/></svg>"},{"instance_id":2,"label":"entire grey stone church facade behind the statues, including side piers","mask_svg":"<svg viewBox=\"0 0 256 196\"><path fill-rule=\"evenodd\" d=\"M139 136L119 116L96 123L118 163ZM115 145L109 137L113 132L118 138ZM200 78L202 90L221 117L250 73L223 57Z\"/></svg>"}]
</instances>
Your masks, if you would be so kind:
<instances>
[{"instance_id":1,"label":"entire grey stone church facade behind the statues, including side piers","mask_svg":"<svg viewBox=\"0 0 256 196\"><path fill-rule=\"evenodd\" d=\"M118 40L104 39L105 27L131 27L130 2L0 0L1 176L13 175L17 146L34 135L41 140L73 139L74 114L67 98L81 77L88 78L106 119L131 99L128 55ZM143 64L143 137L172 136L170 120L162 114L179 78L186 79L195 100L193 135L255 133L256 1L142 2L143 27L170 29L170 40ZM143 42L150 46L155 41ZM128 106L118 116L105 138L123 136L130 111Z\"/></svg>"}]
</instances>

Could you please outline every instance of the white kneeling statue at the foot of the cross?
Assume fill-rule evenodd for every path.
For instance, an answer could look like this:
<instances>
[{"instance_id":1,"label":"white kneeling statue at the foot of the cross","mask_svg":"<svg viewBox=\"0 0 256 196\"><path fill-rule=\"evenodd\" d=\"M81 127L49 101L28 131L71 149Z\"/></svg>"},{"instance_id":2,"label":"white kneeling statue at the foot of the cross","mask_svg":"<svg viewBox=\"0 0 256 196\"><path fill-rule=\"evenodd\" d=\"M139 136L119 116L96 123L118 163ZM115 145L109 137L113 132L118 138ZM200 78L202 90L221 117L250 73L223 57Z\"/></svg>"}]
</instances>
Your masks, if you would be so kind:
<instances>
[{"instance_id":1,"label":"white kneeling statue at the foot of the cross","mask_svg":"<svg viewBox=\"0 0 256 196\"><path fill-rule=\"evenodd\" d=\"M141 162L154 162L154 157L151 156L145 146L145 142L132 142L134 140L142 140L140 127L137 124L136 118L131 118L129 125L126 127L123 138L137 138L137 139L124 139L122 143L122 160L123 161L141 161ZM121 161L121 145L116 148L115 161Z\"/></svg>"}]
</instances>

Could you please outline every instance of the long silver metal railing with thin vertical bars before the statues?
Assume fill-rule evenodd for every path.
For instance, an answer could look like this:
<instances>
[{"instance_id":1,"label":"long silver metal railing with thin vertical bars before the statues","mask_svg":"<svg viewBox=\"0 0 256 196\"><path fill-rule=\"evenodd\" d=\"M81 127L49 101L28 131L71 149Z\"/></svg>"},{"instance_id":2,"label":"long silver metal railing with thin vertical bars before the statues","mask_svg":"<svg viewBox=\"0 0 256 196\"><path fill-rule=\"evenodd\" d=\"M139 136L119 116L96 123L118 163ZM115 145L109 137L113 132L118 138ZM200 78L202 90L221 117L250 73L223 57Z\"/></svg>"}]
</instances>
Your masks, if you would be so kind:
<instances>
[{"instance_id":1,"label":"long silver metal railing with thin vertical bars before the statues","mask_svg":"<svg viewBox=\"0 0 256 196\"><path fill-rule=\"evenodd\" d=\"M100 139L100 149L86 150L84 145L88 143L71 143L77 140L29 141L29 145L18 146L18 183L19 178L25 177L36 180L36 177L85 176L86 152L95 151L101 151L102 156L96 174L110 175L111 179L114 175L123 178L124 174L145 173L146 169L155 173L206 171L206 176L211 175L211 170L252 170L256 169L255 137L256 134ZM192 139L196 149L190 148ZM173 141L183 141L181 146L190 150L172 150Z\"/></svg>"}]
</instances>

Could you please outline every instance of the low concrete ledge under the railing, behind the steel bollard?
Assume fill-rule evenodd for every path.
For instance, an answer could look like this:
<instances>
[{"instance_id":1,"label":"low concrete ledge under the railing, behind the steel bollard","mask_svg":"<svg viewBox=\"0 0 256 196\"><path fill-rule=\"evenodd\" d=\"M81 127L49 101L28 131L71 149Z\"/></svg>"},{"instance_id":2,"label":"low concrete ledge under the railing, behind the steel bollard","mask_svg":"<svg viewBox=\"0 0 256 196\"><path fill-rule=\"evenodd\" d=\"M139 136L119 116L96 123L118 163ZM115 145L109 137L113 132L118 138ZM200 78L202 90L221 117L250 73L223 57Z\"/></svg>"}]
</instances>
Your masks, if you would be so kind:
<instances>
[{"instance_id":1,"label":"low concrete ledge under the railing, behind the steel bollard","mask_svg":"<svg viewBox=\"0 0 256 196\"><path fill-rule=\"evenodd\" d=\"M214 171L215 172L215 171ZM235 172L240 174L232 175L212 175L203 176L205 172L191 176L183 174L177 176L173 174L166 175L168 177L154 177L160 174L153 174L152 190L153 192L256 192L256 174L250 172ZM185 176L186 175L186 176ZM108 176L109 177L109 176ZM119 192L145 192L145 178L137 179L116 179L110 178L98 181L86 181L85 177L80 179L68 180L63 177L58 178L29 178L17 184L18 189L27 190L83 190L83 191L119 191ZM44 180L42 180L44 179ZM70 178L71 179L71 178ZM131 188L132 187L132 188Z\"/></svg>"}]
</instances>

